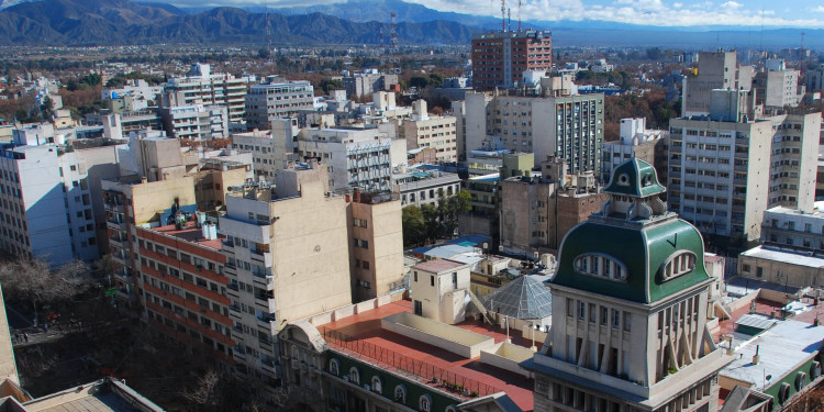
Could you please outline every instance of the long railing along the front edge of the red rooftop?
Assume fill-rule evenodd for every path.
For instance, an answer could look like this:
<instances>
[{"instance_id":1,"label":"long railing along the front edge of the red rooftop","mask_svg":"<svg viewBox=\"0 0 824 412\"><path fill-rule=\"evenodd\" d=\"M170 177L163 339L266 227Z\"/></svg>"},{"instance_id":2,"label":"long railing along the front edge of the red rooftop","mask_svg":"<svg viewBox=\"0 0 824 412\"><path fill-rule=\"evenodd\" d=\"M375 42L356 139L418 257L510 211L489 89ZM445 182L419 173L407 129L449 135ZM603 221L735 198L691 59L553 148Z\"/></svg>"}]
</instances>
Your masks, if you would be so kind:
<instances>
[{"instance_id":1,"label":"long railing along the front edge of the red rooftop","mask_svg":"<svg viewBox=\"0 0 824 412\"><path fill-rule=\"evenodd\" d=\"M333 348L345 349L358 358L366 358L365 360L367 361L377 363L379 364L378 366L388 366L398 372L417 377L430 386L450 391L461 398L486 397L501 392L501 389L491 385L445 370L372 343L354 338L338 331L324 327L323 336L326 343Z\"/></svg>"}]
</instances>

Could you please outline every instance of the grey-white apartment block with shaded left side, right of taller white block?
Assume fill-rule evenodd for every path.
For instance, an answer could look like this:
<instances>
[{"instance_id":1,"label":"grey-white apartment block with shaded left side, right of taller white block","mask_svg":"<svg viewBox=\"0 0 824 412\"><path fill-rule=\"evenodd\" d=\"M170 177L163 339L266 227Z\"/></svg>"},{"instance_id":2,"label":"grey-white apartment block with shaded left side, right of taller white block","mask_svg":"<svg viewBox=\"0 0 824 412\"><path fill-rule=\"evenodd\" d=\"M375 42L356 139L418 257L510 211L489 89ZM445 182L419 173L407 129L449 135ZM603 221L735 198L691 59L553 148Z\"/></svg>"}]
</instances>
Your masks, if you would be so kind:
<instances>
[{"instance_id":1,"label":"grey-white apartment block with shaded left side, right of taller white block","mask_svg":"<svg viewBox=\"0 0 824 412\"><path fill-rule=\"evenodd\" d=\"M246 93L246 126L268 130L272 120L313 108L314 88L309 81L287 81L270 76L265 83L252 85Z\"/></svg>"}]
</instances>

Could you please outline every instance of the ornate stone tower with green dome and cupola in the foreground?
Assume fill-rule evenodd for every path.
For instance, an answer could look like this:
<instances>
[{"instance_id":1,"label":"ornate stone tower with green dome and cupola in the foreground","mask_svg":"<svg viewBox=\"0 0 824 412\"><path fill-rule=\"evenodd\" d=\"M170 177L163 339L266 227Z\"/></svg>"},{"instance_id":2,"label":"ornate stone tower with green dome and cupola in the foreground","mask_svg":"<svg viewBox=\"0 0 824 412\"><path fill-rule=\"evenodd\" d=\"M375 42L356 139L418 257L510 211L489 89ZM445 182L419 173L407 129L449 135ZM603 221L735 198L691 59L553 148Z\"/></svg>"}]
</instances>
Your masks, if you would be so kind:
<instances>
[{"instance_id":1,"label":"ornate stone tower with green dome and cupola in the foreground","mask_svg":"<svg viewBox=\"0 0 824 412\"><path fill-rule=\"evenodd\" d=\"M528 365L535 411L717 410L728 359L706 329L701 234L667 211L644 160L617 166L603 191L601 212L564 238L549 281L553 326Z\"/></svg>"}]
</instances>

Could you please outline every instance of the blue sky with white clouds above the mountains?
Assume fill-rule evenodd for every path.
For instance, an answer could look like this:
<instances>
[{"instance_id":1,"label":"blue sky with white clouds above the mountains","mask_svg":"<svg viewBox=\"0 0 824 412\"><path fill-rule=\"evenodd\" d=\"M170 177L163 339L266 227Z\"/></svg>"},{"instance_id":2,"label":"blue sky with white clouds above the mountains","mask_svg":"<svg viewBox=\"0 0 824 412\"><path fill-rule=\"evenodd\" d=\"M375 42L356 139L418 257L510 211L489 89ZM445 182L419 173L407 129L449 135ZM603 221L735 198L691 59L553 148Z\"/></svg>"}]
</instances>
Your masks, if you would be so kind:
<instances>
[{"instance_id":1,"label":"blue sky with white clouds above the mountains","mask_svg":"<svg viewBox=\"0 0 824 412\"><path fill-rule=\"evenodd\" d=\"M187 5L263 5L264 0L167 0ZM267 0L270 8L345 0ZM500 0L405 0L439 11L500 16ZM510 0L515 18L517 0ZM657 26L750 26L824 29L821 0L522 0L523 20L630 23Z\"/></svg>"}]
</instances>

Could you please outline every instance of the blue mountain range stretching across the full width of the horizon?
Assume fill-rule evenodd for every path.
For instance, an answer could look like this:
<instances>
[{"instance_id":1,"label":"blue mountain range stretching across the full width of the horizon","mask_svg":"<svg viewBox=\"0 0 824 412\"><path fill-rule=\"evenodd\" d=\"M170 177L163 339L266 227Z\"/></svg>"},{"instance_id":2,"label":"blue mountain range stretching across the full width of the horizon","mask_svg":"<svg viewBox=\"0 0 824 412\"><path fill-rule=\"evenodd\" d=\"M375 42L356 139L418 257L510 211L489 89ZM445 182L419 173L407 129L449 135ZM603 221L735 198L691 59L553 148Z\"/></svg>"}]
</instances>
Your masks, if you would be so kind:
<instances>
[{"instance_id":1,"label":"blue mountain range stretching across the full width of the horizon","mask_svg":"<svg viewBox=\"0 0 824 412\"><path fill-rule=\"evenodd\" d=\"M267 19L276 45L378 44L391 12L399 43L468 45L474 33L500 27L489 16L441 12L402 0L348 0L323 5L270 9L178 9L130 0L0 0L0 45L266 44ZM7 7L13 3L13 5ZM364 10L369 10L365 13ZM267 16L268 14L268 16ZM513 25L516 24L513 22ZM823 30L695 31L631 24L524 22L552 30L556 46L794 47L824 48Z\"/></svg>"}]
</instances>

